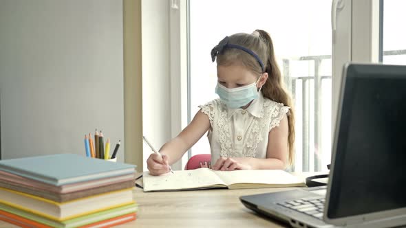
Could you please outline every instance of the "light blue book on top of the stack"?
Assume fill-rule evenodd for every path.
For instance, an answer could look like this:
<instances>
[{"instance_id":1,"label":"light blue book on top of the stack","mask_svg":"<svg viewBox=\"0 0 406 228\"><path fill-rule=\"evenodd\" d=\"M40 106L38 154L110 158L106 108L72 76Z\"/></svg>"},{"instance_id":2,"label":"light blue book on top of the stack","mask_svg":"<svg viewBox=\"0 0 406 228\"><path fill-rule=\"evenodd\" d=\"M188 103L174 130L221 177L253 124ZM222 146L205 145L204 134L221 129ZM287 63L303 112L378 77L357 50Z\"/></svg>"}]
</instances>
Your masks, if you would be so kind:
<instances>
[{"instance_id":1,"label":"light blue book on top of the stack","mask_svg":"<svg viewBox=\"0 0 406 228\"><path fill-rule=\"evenodd\" d=\"M51 185L92 181L135 172L136 166L74 154L44 155L0 161L0 170Z\"/></svg>"}]
</instances>

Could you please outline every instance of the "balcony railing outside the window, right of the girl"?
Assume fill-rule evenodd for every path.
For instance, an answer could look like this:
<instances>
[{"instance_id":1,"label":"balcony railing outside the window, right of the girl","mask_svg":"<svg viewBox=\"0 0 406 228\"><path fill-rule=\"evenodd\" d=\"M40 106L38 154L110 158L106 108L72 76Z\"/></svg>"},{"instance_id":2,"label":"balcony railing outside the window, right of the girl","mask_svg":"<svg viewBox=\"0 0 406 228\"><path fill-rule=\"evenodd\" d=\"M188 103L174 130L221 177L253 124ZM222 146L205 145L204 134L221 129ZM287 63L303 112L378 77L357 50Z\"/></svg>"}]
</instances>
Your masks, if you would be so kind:
<instances>
[{"instance_id":1,"label":"balcony railing outside the window, right of the girl","mask_svg":"<svg viewBox=\"0 0 406 228\"><path fill-rule=\"evenodd\" d=\"M406 49L384 51L383 56L406 56ZM331 113L331 102L330 106L322 106L321 102L326 89L330 89L330 91L327 92L331 94L331 87L326 87L325 84L331 85L332 76L321 74L321 63L323 60L328 59L331 59L330 55L302 56L283 60L282 71L284 73L286 87L292 93L292 97L296 98L295 110L297 113L301 113L301 116L296 115L295 124L296 126L301 126L301 128L296 128L297 139L298 137L300 139L297 140L297 142L301 145L295 145L296 152L300 152L300 155L296 156L297 158L301 158L301 170L297 168L293 168L293 170L303 172L320 171L323 153L327 153L328 157L331 157L331 139L325 139L326 135L331 137L331 128L327 128L330 132L326 133L323 127L325 124L331 126L331 117L330 122L323 122L322 120L322 113ZM297 61L313 62L314 74L312 76L291 76L292 62ZM298 85L301 88L297 88ZM297 91L300 91L301 94L297 94ZM301 110L297 110L298 108ZM328 109L330 109L330 111L328 111ZM329 148L328 151L325 151L325 148Z\"/></svg>"}]
</instances>

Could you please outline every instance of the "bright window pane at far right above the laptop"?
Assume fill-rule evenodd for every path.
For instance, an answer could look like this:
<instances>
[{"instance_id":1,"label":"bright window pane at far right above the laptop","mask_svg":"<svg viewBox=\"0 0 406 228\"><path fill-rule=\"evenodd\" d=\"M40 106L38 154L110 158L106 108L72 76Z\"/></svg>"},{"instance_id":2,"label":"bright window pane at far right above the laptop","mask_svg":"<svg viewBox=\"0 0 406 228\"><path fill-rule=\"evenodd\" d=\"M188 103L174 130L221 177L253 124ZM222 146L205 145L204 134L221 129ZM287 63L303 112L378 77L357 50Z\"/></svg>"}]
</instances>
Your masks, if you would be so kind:
<instances>
[{"instance_id":1,"label":"bright window pane at far right above the laptop","mask_svg":"<svg viewBox=\"0 0 406 228\"><path fill-rule=\"evenodd\" d=\"M406 65L406 1L381 0L383 3L383 63ZM381 19L382 20L382 19Z\"/></svg>"}]
</instances>

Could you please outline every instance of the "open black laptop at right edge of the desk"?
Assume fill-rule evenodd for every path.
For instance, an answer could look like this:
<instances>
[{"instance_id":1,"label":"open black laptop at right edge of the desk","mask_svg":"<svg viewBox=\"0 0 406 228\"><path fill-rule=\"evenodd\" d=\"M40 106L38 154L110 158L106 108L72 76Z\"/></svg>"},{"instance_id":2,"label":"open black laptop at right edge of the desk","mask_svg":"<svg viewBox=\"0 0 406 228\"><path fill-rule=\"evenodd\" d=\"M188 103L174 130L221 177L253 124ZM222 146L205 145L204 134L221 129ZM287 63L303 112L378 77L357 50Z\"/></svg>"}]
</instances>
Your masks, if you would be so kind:
<instances>
[{"instance_id":1,"label":"open black laptop at right edge of the desk","mask_svg":"<svg viewBox=\"0 0 406 228\"><path fill-rule=\"evenodd\" d=\"M406 225L406 66L348 63L328 185L241 196L292 227Z\"/></svg>"}]
</instances>

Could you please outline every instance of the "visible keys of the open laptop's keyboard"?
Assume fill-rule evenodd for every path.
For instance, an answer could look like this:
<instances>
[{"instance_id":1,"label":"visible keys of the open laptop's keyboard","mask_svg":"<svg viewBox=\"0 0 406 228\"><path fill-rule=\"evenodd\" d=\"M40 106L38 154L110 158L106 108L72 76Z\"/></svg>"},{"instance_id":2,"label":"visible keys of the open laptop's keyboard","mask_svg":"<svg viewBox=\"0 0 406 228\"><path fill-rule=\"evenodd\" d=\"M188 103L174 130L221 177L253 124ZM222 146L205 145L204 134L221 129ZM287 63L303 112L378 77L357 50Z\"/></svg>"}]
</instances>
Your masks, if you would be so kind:
<instances>
[{"instance_id":1,"label":"visible keys of the open laptop's keyboard","mask_svg":"<svg viewBox=\"0 0 406 228\"><path fill-rule=\"evenodd\" d=\"M283 207L288 207L294 209L297 212L303 214L308 214L314 218L323 220L323 210L324 210L324 197L322 198L302 198L296 201L285 201L282 203L277 203Z\"/></svg>"}]
</instances>

